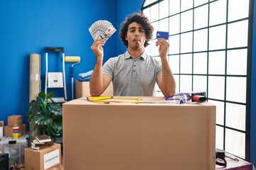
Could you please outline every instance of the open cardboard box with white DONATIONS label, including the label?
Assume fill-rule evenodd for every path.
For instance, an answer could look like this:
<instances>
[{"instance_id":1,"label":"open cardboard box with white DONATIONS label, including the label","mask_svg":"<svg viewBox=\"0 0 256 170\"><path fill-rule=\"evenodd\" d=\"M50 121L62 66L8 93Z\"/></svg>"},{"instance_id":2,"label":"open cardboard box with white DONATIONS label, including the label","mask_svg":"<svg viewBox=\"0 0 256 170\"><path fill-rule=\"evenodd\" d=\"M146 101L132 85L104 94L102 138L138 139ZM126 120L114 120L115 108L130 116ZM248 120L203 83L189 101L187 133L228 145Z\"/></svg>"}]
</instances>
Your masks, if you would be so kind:
<instances>
[{"instance_id":1,"label":"open cardboard box with white DONATIONS label, including the label","mask_svg":"<svg viewBox=\"0 0 256 170\"><path fill-rule=\"evenodd\" d=\"M60 144L57 143L41 150L28 147L24 152L26 170L51 169L61 164Z\"/></svg>"}]
</instances>

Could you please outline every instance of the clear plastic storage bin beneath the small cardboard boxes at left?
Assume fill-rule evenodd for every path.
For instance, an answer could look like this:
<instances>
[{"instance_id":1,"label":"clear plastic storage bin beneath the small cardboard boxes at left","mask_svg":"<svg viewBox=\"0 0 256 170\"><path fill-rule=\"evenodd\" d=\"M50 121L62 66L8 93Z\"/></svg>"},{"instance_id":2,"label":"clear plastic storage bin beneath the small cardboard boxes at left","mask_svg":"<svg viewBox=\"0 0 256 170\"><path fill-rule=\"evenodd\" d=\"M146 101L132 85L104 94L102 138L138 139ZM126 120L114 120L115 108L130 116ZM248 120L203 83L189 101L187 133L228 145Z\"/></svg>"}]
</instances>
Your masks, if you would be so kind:
<instances>
[{"instance_id":1,"label":"clear plastic storage bin beneath the small cardboard boxes at left","mask_svg":"<svg viewBox=\"0 0 256 170\"><path fill-rule=\"evenodd\" d=\"M17 161L18 164L24 164L24 149L28 147L29 135L22 135L14 140L13 137L4 137L0 141L0 150L3 153L9 153L9 164L14 164Z\"/></svg>"}]
</instances>

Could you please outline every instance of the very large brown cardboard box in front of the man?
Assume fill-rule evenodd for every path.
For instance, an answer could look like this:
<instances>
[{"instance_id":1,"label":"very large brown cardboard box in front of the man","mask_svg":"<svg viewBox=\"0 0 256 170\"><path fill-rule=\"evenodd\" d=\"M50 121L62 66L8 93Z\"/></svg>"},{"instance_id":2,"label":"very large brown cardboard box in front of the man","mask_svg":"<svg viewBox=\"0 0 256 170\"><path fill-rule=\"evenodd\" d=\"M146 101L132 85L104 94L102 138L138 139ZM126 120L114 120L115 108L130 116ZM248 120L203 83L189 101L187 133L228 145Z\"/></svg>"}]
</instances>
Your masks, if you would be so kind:
<instances>
[{"instance_id":1,"label":"very large brown cardboard box in front of the man","mask_svg":"<svg viewBox=\"0 0 256 170\"><path fill-rule=\"evenodd\" d=\"M215 106L142 101L63 103L64 168L215 169Z\"/></svg>"}]
</instances>

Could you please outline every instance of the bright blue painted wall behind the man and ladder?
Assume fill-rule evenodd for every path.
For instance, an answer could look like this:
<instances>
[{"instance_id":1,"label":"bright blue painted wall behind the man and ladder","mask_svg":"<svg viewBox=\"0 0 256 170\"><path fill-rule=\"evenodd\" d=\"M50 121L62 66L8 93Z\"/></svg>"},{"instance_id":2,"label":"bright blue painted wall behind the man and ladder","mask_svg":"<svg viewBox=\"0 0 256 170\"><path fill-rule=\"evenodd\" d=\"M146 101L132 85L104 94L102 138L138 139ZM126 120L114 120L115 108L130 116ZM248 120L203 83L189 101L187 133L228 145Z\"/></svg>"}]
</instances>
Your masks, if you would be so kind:
<instances>
[{"instance_id":1,"label":"bright blue painted wall behind the man and ladder","mask_svg":"<svg viewBox=\"0 0 256 170\"><path fill-rule=\"evenodd\" d=\"M130 13L140 11L144 0L9 0L0 1L0 120L9 115L23 115L26 123L29 100L29 55L42 55L42 87L44 84L44 47L64 47L65 55L79 55L74 75L93 69L95 56L90 50L92 38L88 28L97 20L113 23L117 32L104 47L105 60L125 52L119 40L119 24ZM100 8L101 7L101 8ZM255 3L256 8L256 3ZM256 30L256 13L254 13ZM253 34L253 46L256 33ZM256 49L252 50L251 162L256 164ZM49 63L50 64L50 63ZM53 66L53 65L52 65ZM65 64L68 100L71 98L69 68Z\"/></svg>"}]
</instances>

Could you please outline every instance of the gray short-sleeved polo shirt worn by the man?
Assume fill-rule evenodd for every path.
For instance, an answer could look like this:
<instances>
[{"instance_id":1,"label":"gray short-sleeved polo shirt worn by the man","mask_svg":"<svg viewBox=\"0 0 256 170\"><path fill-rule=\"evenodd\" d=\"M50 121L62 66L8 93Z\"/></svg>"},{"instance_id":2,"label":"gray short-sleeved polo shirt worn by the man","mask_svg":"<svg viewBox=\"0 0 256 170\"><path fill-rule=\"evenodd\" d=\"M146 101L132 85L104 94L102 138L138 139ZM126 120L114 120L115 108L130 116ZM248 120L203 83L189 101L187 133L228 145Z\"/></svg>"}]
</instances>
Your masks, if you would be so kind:
<instances>
[{"instance_id":1,"label":"gray short-sleeved polo shirt worn by the man","mask_svg":"<svg viewBox=\"0 0 256 170\"><path fill-rule=\"evenodd\" d=\"M137 59L127 51L107 60L102 72L112 77L114 96L153 96L156 77L162 69L161 61L145 51Z\"/></svg>"}]
</instances>

